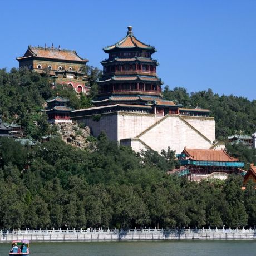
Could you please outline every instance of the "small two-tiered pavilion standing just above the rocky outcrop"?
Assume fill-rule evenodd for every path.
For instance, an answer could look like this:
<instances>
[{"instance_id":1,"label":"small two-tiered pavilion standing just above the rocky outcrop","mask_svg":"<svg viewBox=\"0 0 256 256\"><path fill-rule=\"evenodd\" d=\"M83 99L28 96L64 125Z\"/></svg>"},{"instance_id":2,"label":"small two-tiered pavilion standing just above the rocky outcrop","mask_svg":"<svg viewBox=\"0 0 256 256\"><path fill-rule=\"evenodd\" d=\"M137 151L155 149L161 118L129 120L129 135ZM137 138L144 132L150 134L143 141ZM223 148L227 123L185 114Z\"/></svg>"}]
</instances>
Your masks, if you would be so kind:
<instances>
[{"instance_id":1,"label":"small two-tiered pavilion standing just above the rocky outcrop","mask_svg":"<svg viewBox=\"0 0 256 256\"><path fill-rule=\"evenodd\" d=\"M70 112L74 109L67 106L67 103L69 101L70 100L64 99L59 96L56 96L53 99L46 100L47 107L43 111L45 111L48 115L48 122L50 122L51 124L57 124L60 122L71 123L72 120L70 119Z\"/></svg>"}]
</instances>

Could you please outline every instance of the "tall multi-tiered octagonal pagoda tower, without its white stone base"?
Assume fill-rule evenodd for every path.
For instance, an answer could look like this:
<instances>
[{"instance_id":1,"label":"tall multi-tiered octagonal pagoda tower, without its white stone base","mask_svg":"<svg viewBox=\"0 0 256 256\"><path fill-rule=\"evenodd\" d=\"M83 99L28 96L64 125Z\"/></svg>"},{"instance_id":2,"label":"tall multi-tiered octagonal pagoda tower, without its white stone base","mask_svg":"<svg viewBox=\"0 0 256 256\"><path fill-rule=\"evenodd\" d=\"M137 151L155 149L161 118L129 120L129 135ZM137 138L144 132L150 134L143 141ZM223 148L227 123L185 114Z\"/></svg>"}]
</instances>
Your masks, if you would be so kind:
<instances>
[{"instance_id":1,"label":"tall multi-tiered octagonal pagoda tower, without its white stone base","mask_svg":"<svg viewBox=\"0 0 256 256\"><path fill-rule=\"evenodd\" d=\"M93 104L129 104L132 109L147 106L150 112L153 106L160 106L156 108L159 114L178 113L173 101L162 99L162 82L156 74L158 63L151 58L155 47L137 40L132 27L128 27L126 37L103 50L109 58L101 61L103 75L98 81L99 95Z\"/></svg>"}]
</instances>

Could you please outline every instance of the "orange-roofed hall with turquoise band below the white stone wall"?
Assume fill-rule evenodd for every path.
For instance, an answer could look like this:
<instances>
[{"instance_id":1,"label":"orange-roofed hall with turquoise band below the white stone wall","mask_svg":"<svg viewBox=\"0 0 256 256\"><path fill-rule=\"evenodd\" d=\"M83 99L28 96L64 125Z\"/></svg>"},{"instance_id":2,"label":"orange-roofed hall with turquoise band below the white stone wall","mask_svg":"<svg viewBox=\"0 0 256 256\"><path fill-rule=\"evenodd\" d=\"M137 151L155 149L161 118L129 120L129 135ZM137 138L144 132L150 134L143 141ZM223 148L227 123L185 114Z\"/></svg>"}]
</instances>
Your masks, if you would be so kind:
<instances>
[{"instance_id":1,"label":"orange-roofed hall with turquoise band below the white stone wall","mask_svg":"<svg viewBox=\"0 0 256 256\"><path fill-rule=\"evenodd\" d=\"M229 174L245 175L241 168L244 163L229 156L224 150L212 149L185 149L177 154L181 167L168 174L187 176L189 180L227 179Z\"/></svg>"}]
</instances>

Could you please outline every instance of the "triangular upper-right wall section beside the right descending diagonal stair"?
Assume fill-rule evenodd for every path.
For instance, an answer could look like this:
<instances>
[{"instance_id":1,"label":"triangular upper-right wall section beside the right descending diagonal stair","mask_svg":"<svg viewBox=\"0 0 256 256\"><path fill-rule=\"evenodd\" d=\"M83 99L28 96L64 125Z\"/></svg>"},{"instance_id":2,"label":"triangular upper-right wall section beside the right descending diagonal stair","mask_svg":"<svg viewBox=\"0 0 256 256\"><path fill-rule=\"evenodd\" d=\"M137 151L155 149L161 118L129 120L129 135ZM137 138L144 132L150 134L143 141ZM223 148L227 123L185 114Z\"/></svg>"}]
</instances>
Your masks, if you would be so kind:
<instances>
[{"instance_id":1,"label":"triangular upper-right wall section beside the right descending diagonal stair","mask_svg":"<svg viewBox=\"0 0 256 256\"><path fill-rule=\"evenodd\" d=\"M215 140L215 121L213 117L199 117L199 116L181 116L189 124L193 125L195 129L199 130L205 137L213 143Z\"/></svg>"}]
</instances>

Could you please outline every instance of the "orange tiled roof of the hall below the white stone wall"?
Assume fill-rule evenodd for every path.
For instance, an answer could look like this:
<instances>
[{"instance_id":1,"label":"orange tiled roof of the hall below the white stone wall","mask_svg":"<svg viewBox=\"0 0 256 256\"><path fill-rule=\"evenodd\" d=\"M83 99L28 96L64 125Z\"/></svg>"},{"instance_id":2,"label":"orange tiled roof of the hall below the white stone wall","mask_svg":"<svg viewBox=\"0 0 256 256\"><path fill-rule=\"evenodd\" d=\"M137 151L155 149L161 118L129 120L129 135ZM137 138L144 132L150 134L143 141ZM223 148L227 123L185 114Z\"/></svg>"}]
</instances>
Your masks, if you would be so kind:
<instances>
[{"instance_id":1,"label":"orange tiled roof of the hall below the white stone wall","mask_svg":"<svg viewBox=\"0 0 256 256\"><path fill-rule=\"evenodd\" d=\"M224 150L214 149L185 149L183 153L191 160L196 161L219 161L219 162L237 162L238 158L229 156Z\"/></svg>"}]
</instances>

